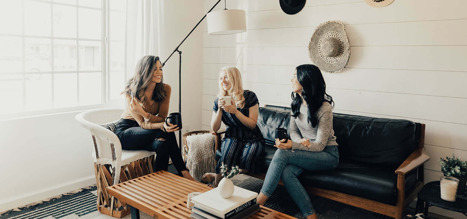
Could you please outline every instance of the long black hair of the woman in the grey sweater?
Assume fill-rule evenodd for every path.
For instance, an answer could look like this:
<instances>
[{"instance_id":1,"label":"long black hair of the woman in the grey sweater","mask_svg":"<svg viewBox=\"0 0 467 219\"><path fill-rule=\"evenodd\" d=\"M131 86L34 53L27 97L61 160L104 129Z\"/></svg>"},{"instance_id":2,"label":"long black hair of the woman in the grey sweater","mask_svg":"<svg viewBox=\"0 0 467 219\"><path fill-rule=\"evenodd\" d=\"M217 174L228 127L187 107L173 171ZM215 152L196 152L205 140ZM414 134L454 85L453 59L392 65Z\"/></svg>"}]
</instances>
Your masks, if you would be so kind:
<instances>
[{"instance_id":1,"label":"long black hair of the woman in the grey sweater","mask_svg":"<svg viewBox=\"0 0 467 219\"><path fill-rule=\"evenodd\" d=\"M301 97L298 93L292 92L292 116L297 118L300 113L300 105L302 97L308 106L308 123L311 121L311 126L315 127L318 124L316 111L323 105L323 102L328 102L331 106L334 105L333 97L326 93L326 83L319 68L312 64L302 64L295 68L297 70L297 80L302 85Z\"/></svg>"}]
</instances>

